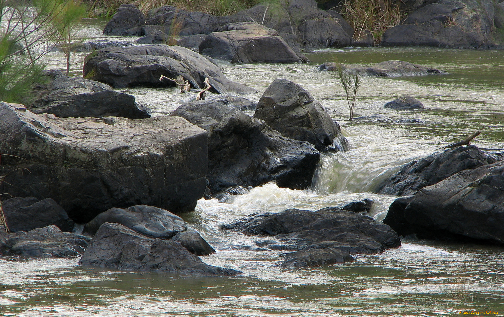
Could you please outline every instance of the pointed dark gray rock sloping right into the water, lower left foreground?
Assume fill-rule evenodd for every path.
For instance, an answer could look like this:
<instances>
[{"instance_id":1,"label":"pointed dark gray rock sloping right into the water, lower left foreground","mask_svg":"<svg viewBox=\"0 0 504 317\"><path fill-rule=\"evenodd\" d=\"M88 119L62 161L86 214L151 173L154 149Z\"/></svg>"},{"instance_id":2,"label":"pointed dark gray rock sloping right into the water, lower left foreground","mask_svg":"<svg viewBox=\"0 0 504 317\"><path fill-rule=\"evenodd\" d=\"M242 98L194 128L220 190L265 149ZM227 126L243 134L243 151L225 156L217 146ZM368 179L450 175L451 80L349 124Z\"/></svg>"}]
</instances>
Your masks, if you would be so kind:
<instances>
[{"instance_id":1,"label":"pointed dark gray rock sloping right into the water, lower left foreground","mask_svg":"<svg viewBox=\"0 0 504 317\"><path fill-rule=\"evenodd\" d=\"M236 275L238 271L203 263L180 243L152 239L117 223L100 226L79 262L119 270L199 275Z\"/></svg>"}]
</instances>

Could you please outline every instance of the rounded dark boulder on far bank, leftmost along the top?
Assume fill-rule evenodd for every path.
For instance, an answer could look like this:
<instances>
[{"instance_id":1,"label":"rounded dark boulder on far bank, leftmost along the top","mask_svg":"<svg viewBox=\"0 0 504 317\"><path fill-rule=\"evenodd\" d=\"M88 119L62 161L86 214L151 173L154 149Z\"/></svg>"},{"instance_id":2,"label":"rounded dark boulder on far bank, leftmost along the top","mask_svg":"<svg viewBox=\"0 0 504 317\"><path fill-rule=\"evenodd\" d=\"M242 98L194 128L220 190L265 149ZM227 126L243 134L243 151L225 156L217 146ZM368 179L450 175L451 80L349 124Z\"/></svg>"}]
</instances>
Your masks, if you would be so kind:
<instances>
[{"instance_id":1,"label":"rounded dark boulder on far bank, leftmost along the top","mask_svg":"<svg viewBox=\"0 0 504 317\"><path fill-rule=\"evenodd\" d=\"M112 19L105 25L105 35L141 35L145 16L133 4L120 5Z\"/></svg>"}]
</instances>

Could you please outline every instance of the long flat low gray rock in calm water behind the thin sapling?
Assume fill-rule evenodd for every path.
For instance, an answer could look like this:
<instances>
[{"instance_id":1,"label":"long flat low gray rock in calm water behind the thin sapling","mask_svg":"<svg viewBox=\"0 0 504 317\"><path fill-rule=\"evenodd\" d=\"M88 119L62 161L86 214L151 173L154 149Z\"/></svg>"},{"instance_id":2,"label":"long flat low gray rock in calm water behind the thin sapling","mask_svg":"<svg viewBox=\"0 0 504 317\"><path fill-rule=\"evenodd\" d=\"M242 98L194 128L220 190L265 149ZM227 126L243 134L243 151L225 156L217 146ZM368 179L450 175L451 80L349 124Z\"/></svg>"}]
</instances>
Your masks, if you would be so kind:
<instances>
[{"instance_id":1,"label":"long flat low gray rock in calm water behind the thin sapling","mask_svg":"<svg viewBox=\"0 0 504 317\"><path fill-rule=\"evenodd\" d=\"M446 74L446 71L412 64L402 60L386 60L371 67L351 66L342 64L344 71L359 72L361 75L371 77L402 77L402 76L423 76L429 74ZM334 62L324 63L319 66L319 70L336 71Z\"/></svg>"}]
</instances>

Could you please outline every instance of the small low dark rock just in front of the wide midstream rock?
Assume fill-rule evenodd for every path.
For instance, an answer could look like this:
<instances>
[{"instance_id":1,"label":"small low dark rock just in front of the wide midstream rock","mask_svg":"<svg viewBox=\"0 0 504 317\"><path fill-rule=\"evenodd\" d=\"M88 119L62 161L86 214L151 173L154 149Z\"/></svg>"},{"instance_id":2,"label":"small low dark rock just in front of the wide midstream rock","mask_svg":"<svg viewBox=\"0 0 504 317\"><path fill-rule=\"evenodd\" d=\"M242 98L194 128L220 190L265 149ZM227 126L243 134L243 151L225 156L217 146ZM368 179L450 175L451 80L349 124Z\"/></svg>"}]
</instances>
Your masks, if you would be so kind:
<instances>
[{"instance_id":1,"label":"small low dark rock just in front of the wide midstream rock","mask_svg":"<svg viewBox=\"0 0 504 317\"><path fill-rule=\"evenodd\" d=\"M310 249L287 253L283 256L282 267L302 268L307 266L324 266L353 261L353 257L338 249Z\"/></svg>"}]
</instances>

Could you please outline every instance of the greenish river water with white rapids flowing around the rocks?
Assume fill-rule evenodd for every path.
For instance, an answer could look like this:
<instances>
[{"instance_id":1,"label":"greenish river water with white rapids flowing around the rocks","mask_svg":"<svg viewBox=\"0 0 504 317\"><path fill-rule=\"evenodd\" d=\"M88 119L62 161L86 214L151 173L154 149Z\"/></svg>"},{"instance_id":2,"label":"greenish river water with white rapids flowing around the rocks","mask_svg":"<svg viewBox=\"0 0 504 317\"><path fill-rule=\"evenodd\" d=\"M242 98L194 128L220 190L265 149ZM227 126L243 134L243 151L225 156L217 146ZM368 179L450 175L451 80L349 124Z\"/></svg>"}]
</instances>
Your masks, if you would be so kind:
<instances>
[{"instance_id":1,"label":"greenish river water with white rapids flowing around the rocks","mask_svg":"<svg viewBox=\"0 0 504 317\"><path fill-rule=\"evenodd\" d=\"M96 37L102 24L86 28ZM118 38L124 40L124 38ZM200 200L182 215L217 249L202 257L238 269L236 277L186 277L82 267L78 259L0 258L0 316L438 316L460 311L504 315L504 248L435 241L403 241L398 249L356 255L328 267L281 269L277 252L254 251L256 238L222 232L219 224L252 212L316 210L370 198L381 220L396 196L369 191L391 169L459 141L476 130L474 144L504 148L504 52L437 48L344 48L307 52L305 64L221 64L231 80L249 85L258 100L275 78L300 84L341 124L352 149L324 155L311 190L257 187L229 203ZM84 53L72 71L82 74ZM355 117L382 114L393 120L347 121L342 89L322 62L338 58L368 65L391 59L435 67L446 75L364 78ZM63 67L60 53L49 66ZM174 88L129 88L153 115L168 114L187 98ZM404 94L423 111L383 105ZM398 123L418 118L425 123ZM473 314L474 315L474 314ZM490 313L490 315L495 315Z\"/></svg>"}]
</instances>

